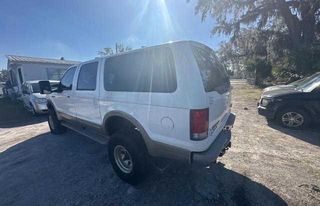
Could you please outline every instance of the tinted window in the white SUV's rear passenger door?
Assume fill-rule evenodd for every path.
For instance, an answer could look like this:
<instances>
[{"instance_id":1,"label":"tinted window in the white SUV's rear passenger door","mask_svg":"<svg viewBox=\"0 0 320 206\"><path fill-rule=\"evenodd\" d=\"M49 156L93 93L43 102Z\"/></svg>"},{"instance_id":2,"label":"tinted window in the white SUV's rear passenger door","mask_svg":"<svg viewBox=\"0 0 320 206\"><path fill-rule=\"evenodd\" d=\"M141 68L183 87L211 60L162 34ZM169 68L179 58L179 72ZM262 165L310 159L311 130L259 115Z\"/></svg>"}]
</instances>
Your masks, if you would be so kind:
<instances>
[{"instance_id":1,"label":"tinted window in the white SUV's rear passenger door","mask_svg":"<svg viewBox=\"0 0 320 206\"><path fill-rule=\"evenodd\" d=\"M95 90L98 64L98 62L92 62L81 66L76 90Z\"/></svg>"}]
</instances>

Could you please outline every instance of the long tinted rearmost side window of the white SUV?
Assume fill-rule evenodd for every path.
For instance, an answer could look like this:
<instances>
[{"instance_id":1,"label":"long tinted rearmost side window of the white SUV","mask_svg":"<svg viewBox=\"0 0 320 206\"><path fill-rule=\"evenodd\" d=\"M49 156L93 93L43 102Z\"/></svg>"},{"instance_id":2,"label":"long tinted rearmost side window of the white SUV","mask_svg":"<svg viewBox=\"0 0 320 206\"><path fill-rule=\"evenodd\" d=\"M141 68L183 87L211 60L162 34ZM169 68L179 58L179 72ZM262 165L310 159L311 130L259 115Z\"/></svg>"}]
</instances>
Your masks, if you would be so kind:
<instances>
[{"instance_id":1,"label":"long tinted rearmost side window of the white SUV","mask_svg":"<svg viewBox=\"0 0 320 206\"><path fill-rule=\"evenodd\" d=\"M176 75L171 49L144 49L107 58L104 64L104 89L121 92L174 92Z\"/></svg>"}]
</instances>

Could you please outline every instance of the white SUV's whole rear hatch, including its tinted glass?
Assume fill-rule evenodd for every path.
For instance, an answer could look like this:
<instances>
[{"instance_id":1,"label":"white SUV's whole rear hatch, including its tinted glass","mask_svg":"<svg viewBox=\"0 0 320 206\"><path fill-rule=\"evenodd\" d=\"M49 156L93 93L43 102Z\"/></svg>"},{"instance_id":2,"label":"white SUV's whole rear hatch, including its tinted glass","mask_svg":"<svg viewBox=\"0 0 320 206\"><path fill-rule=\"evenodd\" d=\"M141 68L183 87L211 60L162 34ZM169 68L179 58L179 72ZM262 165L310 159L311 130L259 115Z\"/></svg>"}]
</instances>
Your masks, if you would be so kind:
<instances>
[{"instance_id":1,"label":"white SUV's whole rear hatch, including its tinted glass","mask_svg":"<svg viewBox=\"0 0 320 206\"><path fill-rule=\"evenodd\" d=\"M199 68L206 105L209 108L208 136L217 136L229 116L231 104L229 77L212 49L195 42L189 45Z\"/></svg>"}]
</instances>

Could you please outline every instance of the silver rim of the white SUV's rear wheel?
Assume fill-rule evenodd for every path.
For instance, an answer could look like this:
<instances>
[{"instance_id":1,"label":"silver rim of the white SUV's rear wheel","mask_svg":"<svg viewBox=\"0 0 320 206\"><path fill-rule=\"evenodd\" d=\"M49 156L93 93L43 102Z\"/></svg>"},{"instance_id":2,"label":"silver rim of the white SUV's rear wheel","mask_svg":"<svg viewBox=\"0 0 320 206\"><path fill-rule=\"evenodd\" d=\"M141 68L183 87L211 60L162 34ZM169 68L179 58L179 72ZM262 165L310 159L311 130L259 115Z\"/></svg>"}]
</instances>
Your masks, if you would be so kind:
<instances>
[{"instance_id":1,"label":"silver rim of the white SUV's rear wheel","mask_svg":"<svg viewBox=\"0 0 320 206\"><path fill-rule=\"evenodd\" d=\"M124 173L130 173L132 171L132 159L126 149L120 145L117 145L114 150L114 159L118 167Z\"/></svg>"}]
</instances>

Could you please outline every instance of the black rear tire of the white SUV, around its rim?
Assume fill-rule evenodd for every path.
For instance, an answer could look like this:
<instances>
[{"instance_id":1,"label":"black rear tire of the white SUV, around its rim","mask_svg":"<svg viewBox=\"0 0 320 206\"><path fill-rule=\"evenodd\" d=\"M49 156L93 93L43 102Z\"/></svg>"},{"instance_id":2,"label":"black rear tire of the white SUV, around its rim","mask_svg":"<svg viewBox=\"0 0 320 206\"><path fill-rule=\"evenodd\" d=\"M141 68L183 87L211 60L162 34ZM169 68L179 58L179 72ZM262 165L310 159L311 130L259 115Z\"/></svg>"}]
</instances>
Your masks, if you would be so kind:
<instances>
[{"instance_id":1,"label":"black rear tire of the white SUV, around its rim","mask_svg":"<svg viewBox=\"0 0 320 206\"><path fill-rule=\"evenodd\" d=\"M116 162L116 148L123 147L129 154L126 159L131 170L124 172ZM108 156L115 173L123 181L130 184L141 182L147 175L149 169L149 154L145 147L141 134L135 130L121 130L111 135L108 142ZM126 156L122 158L125 159Z\"/></svg>"}]
</instances>

